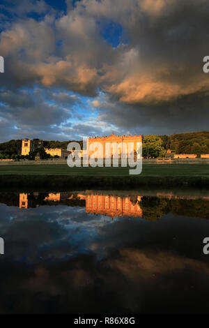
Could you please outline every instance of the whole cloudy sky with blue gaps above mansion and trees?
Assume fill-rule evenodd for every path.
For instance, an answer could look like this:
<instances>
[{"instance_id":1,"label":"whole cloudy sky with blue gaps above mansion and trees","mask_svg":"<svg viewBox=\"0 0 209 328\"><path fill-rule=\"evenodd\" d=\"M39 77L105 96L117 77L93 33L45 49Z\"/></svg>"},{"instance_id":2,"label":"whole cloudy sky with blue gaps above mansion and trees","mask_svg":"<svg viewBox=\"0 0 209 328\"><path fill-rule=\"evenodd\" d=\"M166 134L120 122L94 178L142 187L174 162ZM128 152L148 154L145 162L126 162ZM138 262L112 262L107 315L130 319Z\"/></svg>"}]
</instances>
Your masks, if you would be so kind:
<instances>
[{"instance_id":1,"label":"whole cloudy sky with blue gaps above mansion and trees","mask_svg":"<svg viewBox=\"0 0 209 328\"><path fill-rule=\"evenodd\" d=\"M1 0L0 142L207 131L208 0Z\"/></svg>"}]
</instances>

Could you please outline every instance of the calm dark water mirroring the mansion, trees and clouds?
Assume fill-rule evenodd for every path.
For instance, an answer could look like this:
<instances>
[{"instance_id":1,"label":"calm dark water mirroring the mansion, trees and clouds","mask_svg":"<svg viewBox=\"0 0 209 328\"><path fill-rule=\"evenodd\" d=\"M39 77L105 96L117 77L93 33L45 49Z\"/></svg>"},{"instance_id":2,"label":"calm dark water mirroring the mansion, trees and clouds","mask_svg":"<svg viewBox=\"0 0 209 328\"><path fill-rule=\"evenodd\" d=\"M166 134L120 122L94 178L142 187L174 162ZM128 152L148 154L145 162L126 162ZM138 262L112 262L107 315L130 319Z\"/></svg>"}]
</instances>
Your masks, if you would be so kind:
<instances>
[{"instance_id":1,"label":"calm dark water mirroring the mansion, trees and clouds","mask_svg":"<svg viewBox=\"0 0 209 328\"><path fill-rule=\"evenodd\" d=\"M209 312L209 192L0 192L0 313Z\"/></svg>"}]
</instances>

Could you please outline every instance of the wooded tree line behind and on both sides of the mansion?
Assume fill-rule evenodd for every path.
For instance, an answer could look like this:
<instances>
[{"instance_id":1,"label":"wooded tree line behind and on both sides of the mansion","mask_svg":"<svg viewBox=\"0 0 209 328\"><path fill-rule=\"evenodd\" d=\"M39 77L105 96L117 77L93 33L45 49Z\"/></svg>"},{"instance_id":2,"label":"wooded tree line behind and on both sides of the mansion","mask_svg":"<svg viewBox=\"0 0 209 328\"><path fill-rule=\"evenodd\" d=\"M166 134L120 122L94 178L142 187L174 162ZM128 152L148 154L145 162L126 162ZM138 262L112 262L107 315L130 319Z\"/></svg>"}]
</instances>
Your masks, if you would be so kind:
<instances>
[{"instance_id":1,"label":"wooded tree line behind and on both sides of the mansion","mask_svg":"<svg viewBox=\"0 0 209 328\"><path fill-rule=\"evenodd\" d=\"M67 149L69 141L43 141L44 148L61 148ZM77 141L83 148L83 142ZM10 140L0 144L0 158L5 159L33 159L36 152L22 156L21 155L22 140ZM157 158L167 156L167 152L172 154L209 154L209 131L178 133L173 135L146 135L143 140L143 156L145 158ZM42 151L42 158L48 158L45 151Z\"/></svg>"}]
</instances>

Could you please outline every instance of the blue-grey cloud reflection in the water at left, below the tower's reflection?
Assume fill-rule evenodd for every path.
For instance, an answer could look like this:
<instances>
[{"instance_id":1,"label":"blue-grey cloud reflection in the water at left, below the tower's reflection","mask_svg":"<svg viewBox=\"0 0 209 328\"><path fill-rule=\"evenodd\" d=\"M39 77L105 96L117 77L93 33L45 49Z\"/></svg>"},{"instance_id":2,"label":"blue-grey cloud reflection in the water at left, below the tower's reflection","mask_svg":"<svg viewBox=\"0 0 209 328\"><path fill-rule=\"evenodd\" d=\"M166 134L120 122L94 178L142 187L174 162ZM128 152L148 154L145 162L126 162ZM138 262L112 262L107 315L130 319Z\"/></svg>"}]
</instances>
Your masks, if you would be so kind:
<instances>
[{"instance_id":1,"label":"blue-grey cloud reflection in the water at left, below the tower's reflection","mask_svg":"<svg viewBox=\"0 0 209 328\"><path fill-rule=\"evenodd\" d=\"M1 236L8 245L6 257L13 260L37 262L40 258L66 258L88 252L98 228L107 223L102 216L90 216L79 207L22 211L0 204L0 208Z\"/></svg>"}]
</instances>

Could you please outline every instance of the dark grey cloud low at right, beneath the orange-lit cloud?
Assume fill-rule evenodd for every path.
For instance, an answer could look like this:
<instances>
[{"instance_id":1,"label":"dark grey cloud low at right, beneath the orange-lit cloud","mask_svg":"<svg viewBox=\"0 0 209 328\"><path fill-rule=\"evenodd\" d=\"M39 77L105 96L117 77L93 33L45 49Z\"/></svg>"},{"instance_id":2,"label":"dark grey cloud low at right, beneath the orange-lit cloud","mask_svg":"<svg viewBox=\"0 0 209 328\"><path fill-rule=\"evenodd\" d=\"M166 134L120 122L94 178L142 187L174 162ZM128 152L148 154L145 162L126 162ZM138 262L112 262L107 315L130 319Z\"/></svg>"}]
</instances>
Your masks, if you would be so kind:
<instances>
[{"instance_id":1,"label":"dark grey cloud low at right, beneath the orange-lit cloud","mask_svg":"<svg viewBox=\"0 0 209 328\"><path fill-rule=\"evenodd\" d=\"M120 133L170 134L207 131L209 98L197 92L159 105L128 105L112 100L98 103L98 121L120 126ZM122 114L123 113L123 114Z\"/></svg>"}]
</instances>

